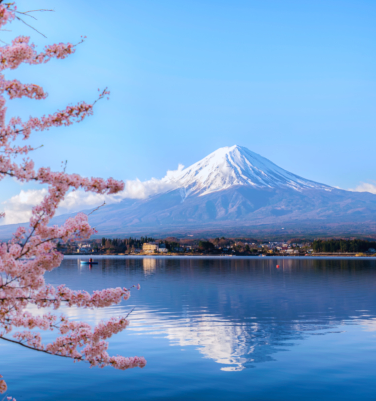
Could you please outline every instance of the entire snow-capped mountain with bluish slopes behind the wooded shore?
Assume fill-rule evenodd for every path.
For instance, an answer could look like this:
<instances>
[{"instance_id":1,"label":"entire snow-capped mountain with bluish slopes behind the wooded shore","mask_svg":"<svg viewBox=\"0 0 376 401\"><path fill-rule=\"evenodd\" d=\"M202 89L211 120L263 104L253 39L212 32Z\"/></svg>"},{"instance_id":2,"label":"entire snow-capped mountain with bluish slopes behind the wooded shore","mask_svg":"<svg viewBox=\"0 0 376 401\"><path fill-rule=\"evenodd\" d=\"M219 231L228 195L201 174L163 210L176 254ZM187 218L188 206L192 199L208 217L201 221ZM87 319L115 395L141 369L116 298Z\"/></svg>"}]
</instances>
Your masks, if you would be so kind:
<instances>
[{"instance_id":1,"label":"entire snow-capped mountain with bluish slopes behind the wooded shore","mask_svg":"<svg viewBox=\"0 0 376 401\"><path fill-rule=\"evenodd\" d=\"M376 195L302 178L242 146L220 148L161 181L168 189L107 205L90 224L99 236L376 234Z\"/></svg>"}]
</instances>

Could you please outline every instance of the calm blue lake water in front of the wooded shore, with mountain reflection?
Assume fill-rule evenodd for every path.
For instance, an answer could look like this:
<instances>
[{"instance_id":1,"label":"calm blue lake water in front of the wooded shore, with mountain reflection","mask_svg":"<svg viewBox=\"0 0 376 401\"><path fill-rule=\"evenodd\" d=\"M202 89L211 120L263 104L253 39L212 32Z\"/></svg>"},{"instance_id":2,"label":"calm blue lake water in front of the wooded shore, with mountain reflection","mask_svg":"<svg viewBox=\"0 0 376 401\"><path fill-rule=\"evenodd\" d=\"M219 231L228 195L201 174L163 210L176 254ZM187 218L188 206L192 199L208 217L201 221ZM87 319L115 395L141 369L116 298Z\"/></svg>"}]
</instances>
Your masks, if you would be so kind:
<instances>
[{"instance_id":1,"label":"calm blue lake water in front of the wooded shore, with mountain reflection","mask_svg":"<svg viewBox=\"0 0 376 401\"><path fill-rule=\"evenodd\" d=\"M96 323L135 306L109 353L143 355L146 367L90 369L0 342L0 373L18 400L376 399L374 259L97 260L89 269L67 257L47 281L88 291L140 283L116 307L64 313Z\"/></svg>"}]
</instances>

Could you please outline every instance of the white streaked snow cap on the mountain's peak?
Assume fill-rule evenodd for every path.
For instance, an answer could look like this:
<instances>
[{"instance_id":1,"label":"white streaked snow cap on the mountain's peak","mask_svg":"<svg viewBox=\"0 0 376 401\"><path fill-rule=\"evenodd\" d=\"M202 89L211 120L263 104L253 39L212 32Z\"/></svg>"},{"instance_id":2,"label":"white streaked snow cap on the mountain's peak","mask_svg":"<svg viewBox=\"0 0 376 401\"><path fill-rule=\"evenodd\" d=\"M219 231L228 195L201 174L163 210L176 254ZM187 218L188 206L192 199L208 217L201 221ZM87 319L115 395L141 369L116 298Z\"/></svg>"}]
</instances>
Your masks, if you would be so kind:
<instances>
[{"instance_id":1,"label":"white streaked snow cap on the mountain's peak","mask_svg":"<svg viewBox=\"0 0 376 401\"><path fill-rule=\"evenodd\" d=\"M288 187L331 190L330 186L292 174L243 146L226 146L204 157L190 167L169 171L162 179L181 189L182 197L199 196L234 185L253 188Z\"/></svg>"}]
</instances>

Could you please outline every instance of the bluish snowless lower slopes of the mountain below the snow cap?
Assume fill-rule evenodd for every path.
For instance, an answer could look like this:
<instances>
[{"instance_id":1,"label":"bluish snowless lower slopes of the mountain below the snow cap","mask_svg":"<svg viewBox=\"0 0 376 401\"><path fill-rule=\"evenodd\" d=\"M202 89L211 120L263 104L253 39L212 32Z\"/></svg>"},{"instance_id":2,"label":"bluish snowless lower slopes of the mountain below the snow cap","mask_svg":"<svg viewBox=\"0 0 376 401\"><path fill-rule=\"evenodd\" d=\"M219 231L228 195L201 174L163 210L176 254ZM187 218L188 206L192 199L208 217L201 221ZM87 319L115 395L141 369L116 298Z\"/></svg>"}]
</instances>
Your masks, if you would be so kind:
<instances>
[{"instance_id":1,"label":"bluish snowless lower slopes of the mountain below the snow cap","mask_svg":"<svg viewBox=\"0 0 376 401\"><path fill-rule=\"evenodd\" d=\"M54 219L61 224L67 216ZM250 188L243 185L190 195L179 189L147 199L124 199L90 216L99 235L178 234L186 231L243 235L272 233L369 234L376 220L376 195L333 188ZM1 232L1 231L0 231Z\"/></svg>"}]
</instances>

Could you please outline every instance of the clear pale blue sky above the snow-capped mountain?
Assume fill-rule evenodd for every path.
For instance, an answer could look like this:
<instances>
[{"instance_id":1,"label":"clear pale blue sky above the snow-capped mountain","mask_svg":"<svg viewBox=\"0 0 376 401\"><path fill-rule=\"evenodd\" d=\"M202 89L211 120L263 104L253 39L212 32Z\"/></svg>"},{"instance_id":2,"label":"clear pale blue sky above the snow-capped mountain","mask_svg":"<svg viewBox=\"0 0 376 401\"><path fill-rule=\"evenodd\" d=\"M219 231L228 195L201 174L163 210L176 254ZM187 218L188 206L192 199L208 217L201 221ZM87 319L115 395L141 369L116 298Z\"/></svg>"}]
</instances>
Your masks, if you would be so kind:
<instances>
[{"instance_id":1,"label":"clear pale blue sky above the snow-capped mountain","mask_svg":"<svg viewBox=\"0 0 376 401\"><path fill-rule=\"evenodd\" d=\"M67 60L8 74L42 85L44 101L9 115L109 101L80 124L34 135L37 165L140 180L161 178L238 144L305 178L342 188L376 180L376 25L373 1L22 0L44 46L86 42ZM0 200L20 188L7 180ZM24 186L31 188L32 186Z\"/></svg>"}]
</instances>

